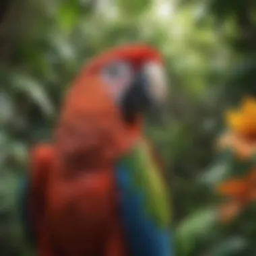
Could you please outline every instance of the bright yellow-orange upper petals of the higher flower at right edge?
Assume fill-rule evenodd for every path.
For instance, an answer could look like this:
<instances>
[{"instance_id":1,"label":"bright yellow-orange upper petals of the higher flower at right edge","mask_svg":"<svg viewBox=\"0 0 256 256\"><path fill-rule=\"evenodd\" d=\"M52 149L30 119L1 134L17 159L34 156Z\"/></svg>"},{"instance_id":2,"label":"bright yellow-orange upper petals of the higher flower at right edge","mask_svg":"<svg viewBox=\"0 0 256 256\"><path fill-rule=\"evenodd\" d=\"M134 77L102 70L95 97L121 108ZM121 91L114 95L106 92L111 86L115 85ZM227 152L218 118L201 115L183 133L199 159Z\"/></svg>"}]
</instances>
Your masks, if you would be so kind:
<instances>
[{"instance_id":1,"label":"bright yellow-orange upper petals of the higher flower at right edge","mask_svg":"<svg viewBox=\"0 0 256 256\"><path fill-rule=\"evenodd\" d=\"M228 128L241 137L256 139L256 99L247 97L241 108L226 113Z\"/></svg>"}]
</instances>

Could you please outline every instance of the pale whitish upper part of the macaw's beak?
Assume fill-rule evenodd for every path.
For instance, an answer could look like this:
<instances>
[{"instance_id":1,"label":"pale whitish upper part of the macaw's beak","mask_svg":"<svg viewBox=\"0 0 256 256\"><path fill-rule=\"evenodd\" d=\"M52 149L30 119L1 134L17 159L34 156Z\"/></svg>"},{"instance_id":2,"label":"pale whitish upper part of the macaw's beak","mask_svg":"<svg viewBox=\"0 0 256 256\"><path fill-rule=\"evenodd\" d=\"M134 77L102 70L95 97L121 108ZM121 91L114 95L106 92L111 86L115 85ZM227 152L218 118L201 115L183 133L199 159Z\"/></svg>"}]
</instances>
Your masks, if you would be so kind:
<instances>
[{"instance_id":1,"label":"pale whitish upper part of the macaw's beak","mask_svg":"<svg viewBox=\"0 0 256 256\"><path fill-rule=\"evenodd\" d=\"M148 81L148 94L157 103L164 102L167 96L167 77L163 65L150 62L143 67Z\"/></svg>"}]
</instances>

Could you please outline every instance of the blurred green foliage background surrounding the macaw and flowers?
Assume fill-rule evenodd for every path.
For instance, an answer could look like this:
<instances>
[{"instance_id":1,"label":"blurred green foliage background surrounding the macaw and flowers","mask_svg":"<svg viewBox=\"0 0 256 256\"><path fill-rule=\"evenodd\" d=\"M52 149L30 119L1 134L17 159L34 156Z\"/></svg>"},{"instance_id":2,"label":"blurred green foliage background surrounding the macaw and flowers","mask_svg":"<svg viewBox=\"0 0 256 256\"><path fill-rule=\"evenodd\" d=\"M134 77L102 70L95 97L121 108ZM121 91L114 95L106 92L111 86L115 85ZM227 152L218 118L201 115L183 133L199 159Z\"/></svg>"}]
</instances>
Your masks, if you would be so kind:
<instances>
[{"instance_id":1,"label":"blurred green foliage background surrounding the macaw and flowers","mask_svg":"<svg viewBox=\"0 0 256 256\"><path fill-rule=\"evenodd\" d=\"M151 117L147 133L166 161L177 255L256 255L256 219L219 225L201 182L212 162L216 172L223 166L213 147L223 110L256 92L256 1L5 0L0 38L1 256L28 255L13 203L29 148L51 139L82 65L129 42L152 44L166 59L164 124Z\"/></svg>"}]
</instances>

